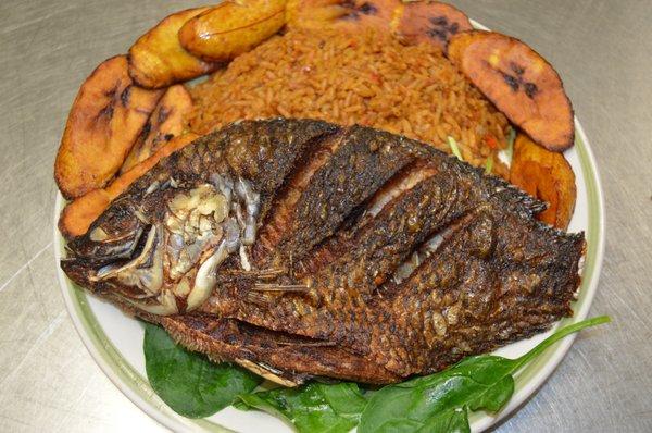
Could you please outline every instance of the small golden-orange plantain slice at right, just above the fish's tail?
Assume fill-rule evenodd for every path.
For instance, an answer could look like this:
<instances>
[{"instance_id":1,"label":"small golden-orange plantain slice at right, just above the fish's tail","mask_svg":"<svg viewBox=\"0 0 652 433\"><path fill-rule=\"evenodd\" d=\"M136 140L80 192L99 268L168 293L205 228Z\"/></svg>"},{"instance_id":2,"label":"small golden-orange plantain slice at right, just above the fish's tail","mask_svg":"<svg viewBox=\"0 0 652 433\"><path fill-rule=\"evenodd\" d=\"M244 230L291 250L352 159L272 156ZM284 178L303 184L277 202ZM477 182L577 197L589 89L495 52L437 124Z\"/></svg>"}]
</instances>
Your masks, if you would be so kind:
<instances>
[{"instance_id":1,"label":"small golden-orange plantain slice at right, just above the fish's tail","mask_svg":"<svg viewBox=\"0 0 652 433\"><path fill-rule=\"evenodd\" d=\"M510 182L549 203L537 218L566 230L573 218L577 190L575 173L562 153L551 152L524 134L514 141Z\"/></svg>"}]
</instances>

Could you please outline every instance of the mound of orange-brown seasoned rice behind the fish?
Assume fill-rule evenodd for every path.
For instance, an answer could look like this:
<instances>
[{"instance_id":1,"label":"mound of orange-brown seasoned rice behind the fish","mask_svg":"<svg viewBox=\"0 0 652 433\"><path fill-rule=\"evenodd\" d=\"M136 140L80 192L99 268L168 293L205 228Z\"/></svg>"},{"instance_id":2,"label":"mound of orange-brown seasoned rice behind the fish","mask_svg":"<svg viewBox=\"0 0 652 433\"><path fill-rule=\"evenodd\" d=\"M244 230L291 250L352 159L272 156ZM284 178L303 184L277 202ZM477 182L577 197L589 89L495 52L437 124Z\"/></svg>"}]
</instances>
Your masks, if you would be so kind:
<instances>
[{"instance_id":1,"label":"mound of orange-brown seasoned rice behind the fish","mask_svg":"<svg viewBox=\"0 0 652 433\"><path fill-rule=\"evenodd\" d=\"M509 122L430 45L403 46L373 30L290 30L236 58L191 89L190 128L205 134L239 119L274 116L362 124L429 143L493 172L506 168Z\"/></svg>"}]
</instances>

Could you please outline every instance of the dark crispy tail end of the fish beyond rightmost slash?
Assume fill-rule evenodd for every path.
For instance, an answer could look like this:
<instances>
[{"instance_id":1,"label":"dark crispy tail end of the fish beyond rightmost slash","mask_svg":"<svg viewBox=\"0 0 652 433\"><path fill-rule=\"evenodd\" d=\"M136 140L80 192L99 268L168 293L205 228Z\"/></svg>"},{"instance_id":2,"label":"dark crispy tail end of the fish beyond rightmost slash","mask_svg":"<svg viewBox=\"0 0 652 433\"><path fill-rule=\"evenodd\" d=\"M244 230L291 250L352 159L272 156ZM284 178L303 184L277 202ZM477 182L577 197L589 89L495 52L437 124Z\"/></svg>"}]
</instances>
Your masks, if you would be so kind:
<instances>
[{"instance_id":1,"label":"dark crispy tail end of the fish beyond rightmost slash","mask_svg":"<svg viewBox=\"0 0 652 433\"><path fill-rule=\"evenodd\" d=\"M378 300L376 310L393 311L378 321L398 332L373 331L377 362L402 376L425 374L549 329L573 314L584 249L582 234L560 236L500 205L467 215Z\"/></svg>"}]
</instances>

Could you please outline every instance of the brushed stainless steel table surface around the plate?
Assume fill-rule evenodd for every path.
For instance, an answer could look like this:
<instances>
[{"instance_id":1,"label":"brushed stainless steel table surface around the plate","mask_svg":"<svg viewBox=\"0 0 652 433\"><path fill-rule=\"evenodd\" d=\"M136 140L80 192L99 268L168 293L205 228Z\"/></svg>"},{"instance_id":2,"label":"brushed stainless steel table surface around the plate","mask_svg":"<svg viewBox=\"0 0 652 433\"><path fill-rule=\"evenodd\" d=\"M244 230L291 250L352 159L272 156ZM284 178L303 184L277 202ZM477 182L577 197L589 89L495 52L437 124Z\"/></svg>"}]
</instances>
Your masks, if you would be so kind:
<instances>
[{"instance_id":1,"label":"brushed stainless steel table surface around the plate","mask_svg":"<svg viewBox=\"0 0 652 433\"><path fill-rule=\"evenodd\" d=\"M652 431L652 1L457 0L565 81L606 195L592 314L552 378L499 431ZM103 59L168 12L162 0L0 2L0 431L162 431L78 338L55 281L52 162L71 102Z\"/></svg>"}]
</instances>

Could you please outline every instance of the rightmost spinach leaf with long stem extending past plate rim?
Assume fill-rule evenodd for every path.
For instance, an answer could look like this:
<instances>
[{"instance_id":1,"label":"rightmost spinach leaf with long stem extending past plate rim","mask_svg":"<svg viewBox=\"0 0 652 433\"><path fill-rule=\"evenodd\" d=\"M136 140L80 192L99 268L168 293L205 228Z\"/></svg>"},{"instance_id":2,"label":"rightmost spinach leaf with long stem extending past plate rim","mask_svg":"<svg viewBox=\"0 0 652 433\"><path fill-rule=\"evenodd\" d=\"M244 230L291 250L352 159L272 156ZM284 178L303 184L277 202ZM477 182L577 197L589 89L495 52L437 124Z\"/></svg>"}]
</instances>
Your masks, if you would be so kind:
<instances>
[{"instance_id":1,"label":"rightmost spinach leaf with long stem extending past plate rim","mask_svg":"<svg viewBox=\"0 0 652 433\"><path fill-rule=\"evenodd\" d=\"M561 338L609 321L598 317L563 327L517 359L469 357L439 373L386 386L369 398L358 432L468 432L468 410L500 410L523 366Z\"/></svg>"}]
</instances>

